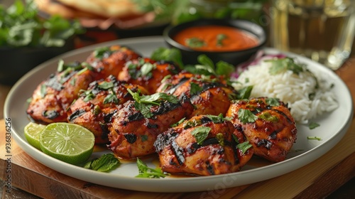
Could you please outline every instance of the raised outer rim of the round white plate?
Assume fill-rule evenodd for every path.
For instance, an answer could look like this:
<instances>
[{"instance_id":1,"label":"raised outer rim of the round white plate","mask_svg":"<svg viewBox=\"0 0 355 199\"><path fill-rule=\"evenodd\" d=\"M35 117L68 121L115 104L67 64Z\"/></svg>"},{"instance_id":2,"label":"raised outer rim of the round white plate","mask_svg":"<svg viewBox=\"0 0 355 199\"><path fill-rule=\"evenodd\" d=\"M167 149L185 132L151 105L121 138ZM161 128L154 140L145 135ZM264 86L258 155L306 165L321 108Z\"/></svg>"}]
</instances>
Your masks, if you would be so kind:
<instances>
[{"instance_id":1,"label":"raised outer rim of the round white plate","mask_svg":"<svg viewBox=\"0 0 355 199\"><path fill-rule=\"evenodd\" d=\"M140 37L140 38L124 38L124 39L119 39L116 41L109 41L109 42L105 42L105 43L98 43L95 45L89 45L87 47L84 48L79 48L77 50L71 50L67 53L64 53L62 55L59 55L55 58L52 58L48 61L46 61L45 63L42 63L40 65L38 65L38 67L34 68L33 70L31 70L30 72L26 73L26 75L24 75L23 77L21 77L20 80L18 80L18 82L16 82L15 85L13 85L13 87L11 88L8 96L6 97L5 100L5 104L4 104L4 119L6 118L11 118L11 116L8 114L9 113L9 104L11 104L11 97L14 95L14 93L16 92L16 88L21 85L23 83L23 81L27 80L29 77L31 77L31 75L35 74L36 72L43 70L43 68L45 68L47 65L49 65L50 63L53 63L54 61L58 61L58 58L60 57L68 57L70 55L77 55L80 53L84 53L87 52L89 50L92 50L94 48L98 48L100 46L104 46L104 45L112 45L112 44L117 44L117 43L140 43L142 41L150 41L150 42L164 42L163 41L163 37L162 36L148 36L148 37ZM128 44L125 44L128 45ZM293 55L297 58L302 58L307 60L307 62L312 62L315 65L318 65L317 67L323 67L324 70L326 70L327 72L329 72L329 74L332 72L332 70L330 70L329 68L325 68L324 66L320 65L320 63L315 63L314 61L302 57L300 55L296 55L294 53L288 53L288 52L283 52L280 50L276 50L274 48L264 48L266 51L275 51L275 52L279 52L279 53L285 53L287 55ZM322 70L323 70L322 69ZM258 175L258 173L262 172L265 169L269 169L270 171L278 171L279 168L282 168L283 165L287 164L289 161L293 161L294 165L291 166L292 168L288 169L288 171L285 172L278 172L277 175L272 174L273 172L269 172L268 175L264 175L263 178L260 179L260 181L263 180L267 180L273 177L277 177L277 176L281 176L285 173L289 173L291 171L294 171L297 168L300 168L302 166L307 165L308 163L315 161L317 158L319 158L320 156L324 155L325 153L327 153L327 151L329 151L330 149L332 149L339 141L340 139L342 139L342 137L344 136L344 134L346 134L347 129L349 129L350 125L351 125L351 119L352 119L352 115L354 112L354 108L353 108L353 103L352 103L352 98L351 98L351 94L349 91L349 88L346 86L346 84L344 83L344 81L337 75L334 75L334 78L336 78L339 83L342 84L342 87L345 88L346 95L348 95L349 99L350 99L350 106L351 109L349 111L349 115L347 116L346 120L344 121L344 125L342 126L342 129L339 129L339 132L335 133L334 135L332 135L327 141L324 141L324 143L320 144L319 146L316 146L315 148L312 148L308 151L305 151L305 153L300 154L298 156L295 156L293 158L289 158L288 161L283 161L280 163L273 163L269 166L263 166L260 168L253 168L251 170L248 171L243 171L244 173L248 174L248 173L256 173L256 175ZM25 114L25 113L23 113ZM129 185L130 183L126 183L125 186L120 186L120 187L116 187L116 186L112 186L111 184L102 182L102 180L100 180L100 182L98 183L98 181L92 181L92 179L89 179L89 176L94 176L94 177L99 177L99 176L104 176L104 178L109 178L111 180L114 180L113 178L116 178L116 174L112 175L110 173L100 173L97 171L91 171L91 170L87 170L85 168L81 168L79 166L73 166L71 164L68 163L64 163L62 161L59 161L55 158L52 158L50 156L47 156L45 154L43 154L41 151L38 151L38 149L35 149L33 146L29 145L27 141L23 140L21 138L21 136L19 136L19 134L15 131L13 131L13 129L11 128L11 135L13 135L13 138L16 140L16 143L18 144L18 146L23 149L23 151L26 152L26 154L30 155L32 158L34 158L36 161L44 164L45 166L48 166L49 168L52 168L55 171L58 171L58 168L55 169L53 167L55 167L55 164L59 164L60 166L62 166L64 164L64 166L66 168L73 168L73 169L67 169L67 170L73 170L73 171L77 171L76 173L74 172L70 172L70 171L62 171L62 169L58 172L66 174L67 176L72 176L73 178L77 178L80 179L82 181L88 181L91 183L97 183L100 185L107 185L110 187L114 187L114 188L124 188L124 189L129 189L129 190L141 190L141 191L149 191L149 192L190 192L190 191L204 191L204 190L211 190L216 188L216 182L210 182L208 183L208 179L211 178L216 178L216 176L203 176L203 177L197 177L197 178L188 178L189 181L197 181L199 182L202 178L202 180L207 181L207 185L204 188L191 188L191 187L186 187L184 186L183 189L180 190L176 190L176 189L171 189L171 188L167 188L165 190L161 190L160 186L164 185L167 181L169 183L171 183L172 185L178 185L181 188L181 179L182 178L160 178L160 179L146 179L146 178L129 178L126 176L121 176L121 178L124 178L125 181L129 181L130 183L133 183L134 185ZM330 144L329 144L330 143ZM35 151L37 150L37 151ZM317 153L315 153L315 151L317 151ZM38 154L40 154L40 157L38 157ZM48 160L48 158L50 159L50 163L47 163L45 160ZM307 160L303 160L302 163L298 162L297 163L297 159L300 158L306 158ZM87 176L81 176L83 173L90 173L90 175ZM221 179L229 179L229 178L239 178L240 175L238 172L236 173L229 173L229 174L223 174L223 175L217 175L217 177L221 177ZM91 177L90 177L91 178ZM155 184L155 188L152 185L146 185L151 184L151 182L154 182ZM225 188L230 188L230 187L234 187L237 185L245 185L245 184L249 184L249 183L256 183L256 181L244 181L244 183L235 183L233 182L232 185L229 184L224 184ZM142 187L142 185L144 185ZM217 187L219 188L219 187Z\"/></svg>"}]
</instances>

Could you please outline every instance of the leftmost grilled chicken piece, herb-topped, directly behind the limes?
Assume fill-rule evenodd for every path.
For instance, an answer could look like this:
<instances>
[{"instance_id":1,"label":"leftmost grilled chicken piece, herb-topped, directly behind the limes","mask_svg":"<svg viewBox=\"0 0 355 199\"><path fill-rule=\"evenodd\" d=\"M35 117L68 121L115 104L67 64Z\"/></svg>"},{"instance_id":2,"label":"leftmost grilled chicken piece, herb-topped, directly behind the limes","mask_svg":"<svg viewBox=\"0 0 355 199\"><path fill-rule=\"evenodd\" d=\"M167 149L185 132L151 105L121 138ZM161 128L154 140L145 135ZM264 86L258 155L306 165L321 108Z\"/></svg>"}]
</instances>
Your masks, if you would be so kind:
<instances>
[{"instance_id":1,"label":"leftmost grilled chicken piece, herb-topped, directly behind the limes","mask_svg":"<svg viewBox=\"0 0 355 199\"><path fill-rule=\"evenodd\" d=\"M67 109L93 81L94 72L82 68L82 63L71 63L38 85L28 109L29 117L40 124L67 122Z\"/></svg>"}]
</instances>

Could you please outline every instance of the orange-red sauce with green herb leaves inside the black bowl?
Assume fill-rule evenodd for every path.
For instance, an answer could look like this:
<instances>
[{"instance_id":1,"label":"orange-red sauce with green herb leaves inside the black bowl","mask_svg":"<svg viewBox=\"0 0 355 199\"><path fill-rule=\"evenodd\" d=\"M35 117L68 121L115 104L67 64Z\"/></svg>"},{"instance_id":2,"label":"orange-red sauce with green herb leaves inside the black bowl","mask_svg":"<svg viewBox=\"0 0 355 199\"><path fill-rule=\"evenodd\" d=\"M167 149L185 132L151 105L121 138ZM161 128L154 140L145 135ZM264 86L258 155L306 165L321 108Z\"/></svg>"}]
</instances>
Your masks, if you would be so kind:
<instances>
[{"instance_id":1,"label":"orange-red sauce with green herb leaves inside the black bowl","mask_svg":"<svg viewBox=\"0 0 355 199\"><path fill-rule=\"evenodd\" d=\"M229 26L195 26L180 31L173 38L195 50L231 51L253 48L258 38L251 33Z\"/></svg>"}]
</instances>

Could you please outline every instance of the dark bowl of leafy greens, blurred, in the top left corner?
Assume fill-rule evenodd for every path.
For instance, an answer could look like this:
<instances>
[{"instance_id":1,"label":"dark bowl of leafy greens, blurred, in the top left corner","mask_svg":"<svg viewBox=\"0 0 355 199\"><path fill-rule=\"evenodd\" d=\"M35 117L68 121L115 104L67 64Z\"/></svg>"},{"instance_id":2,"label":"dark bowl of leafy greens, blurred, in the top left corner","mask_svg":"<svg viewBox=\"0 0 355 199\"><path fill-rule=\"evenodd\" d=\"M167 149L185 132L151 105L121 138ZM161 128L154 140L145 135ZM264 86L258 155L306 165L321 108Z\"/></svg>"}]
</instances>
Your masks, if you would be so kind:
<instances>
[{"instance_id":1,"label":"dark bowl of leafy greens, blurred, in the top left corner","mask_svg":"<svg viewBox=\"0 0 355 199\"><path fill-rule=\"evenodd\" d=\"M60 16L41 18L33 1L0 5L0 84L13 85L26 72L75 48L84 33L78 21Z\"/></svg>"}]
</instances>

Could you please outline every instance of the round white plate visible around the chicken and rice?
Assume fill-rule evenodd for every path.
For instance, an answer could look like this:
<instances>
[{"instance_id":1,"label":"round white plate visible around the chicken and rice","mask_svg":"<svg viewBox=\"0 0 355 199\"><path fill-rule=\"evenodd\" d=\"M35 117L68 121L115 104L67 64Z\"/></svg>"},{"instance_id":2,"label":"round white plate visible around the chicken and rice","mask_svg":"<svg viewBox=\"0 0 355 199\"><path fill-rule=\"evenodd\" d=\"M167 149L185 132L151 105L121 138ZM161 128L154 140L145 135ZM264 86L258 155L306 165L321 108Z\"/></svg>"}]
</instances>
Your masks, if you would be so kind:
<instances>
[{"instance_id":1,"label":"round white plate visible around the chicken and rice","mask_svg":"<svg viewBox=\"0 0 355 199\"><path fill-rule=\"evenodd\" d=\"M138 174L138 168L135 162L124 162L121 163L119 168L116 168L116 170L110 173L100 173L58 161L28 144L23 134L23 128L29 122L26 116L26 99L31 97L33 90L35 90L35 87L40 81L56 70L59 59L63 59L65 62L76 60L83 61L95 48L113 44L127 45L145 56L150 56L152 50L160 46L165 46L163 38L161 37L130 38L111 41L73 50L57 58L48 60L34 70L31 70L31 72L28 72L28 74L22 77L21 80L13 86L6 98L4 107L4 116L11 119L12 122L12 136L16 139L18 146L20 146L23 151L26 151L26 153L35 158L35 160L49 168L53 168L55 171L99 185L150 192L202 191L256 183L305 166L307 163L325 154L329 149L332 149L332 147L342 139L351 123L353 114L351 95L344 82L335 75L332 70L307 58L288 53L288 55L296 57L300 62L306 63L313 72L322 72L324 75L328 76L327 79L329 81L334 82L334 92L338 97L339 108L334 112L318 117L315 122L319 123L320 127L316 129L310 130L305 126L297 125L297 141L288 154L288 158L283 162L267 163L266 161L256 158L245 166L242 171L231 174L206 177L148 179L134 177ZM278 52L273 49L266 49L266 53ZM307 136L320 136L322 141L308 140ZM102 152L95 152L92 157L97 157L101 154ZM157 164L157 161L152 158L147 158L145 161L148 163L148 166L151 167L155 167Z\"/></svg>"}]
</instances>

